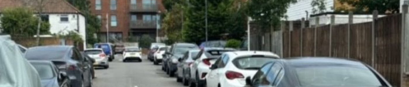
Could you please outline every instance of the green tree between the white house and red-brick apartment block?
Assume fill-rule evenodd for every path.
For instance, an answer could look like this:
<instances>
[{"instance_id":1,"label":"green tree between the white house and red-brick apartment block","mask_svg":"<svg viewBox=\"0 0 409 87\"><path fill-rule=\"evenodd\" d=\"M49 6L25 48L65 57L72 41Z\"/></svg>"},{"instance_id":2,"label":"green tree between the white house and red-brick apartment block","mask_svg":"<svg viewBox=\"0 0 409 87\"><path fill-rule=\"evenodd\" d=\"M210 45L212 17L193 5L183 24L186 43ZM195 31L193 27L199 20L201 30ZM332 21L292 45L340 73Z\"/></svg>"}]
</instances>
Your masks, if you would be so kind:
<instances>
[{"instance_id":1,"label":"green tree between the white house and red-brick apartment block","mask_svg":"<svg viewBox=\"0 0 409 87\"><path fill-rule=\"evenodd\" d=\"M90 1L89 0L67 0L74 7L79 9L81 13L85 16L86 22L86 41L88 44L98 43L99 39L94 37L101 28L101 20L97 16L93 15L90 11Z\"/></svg>"}]
</instances>

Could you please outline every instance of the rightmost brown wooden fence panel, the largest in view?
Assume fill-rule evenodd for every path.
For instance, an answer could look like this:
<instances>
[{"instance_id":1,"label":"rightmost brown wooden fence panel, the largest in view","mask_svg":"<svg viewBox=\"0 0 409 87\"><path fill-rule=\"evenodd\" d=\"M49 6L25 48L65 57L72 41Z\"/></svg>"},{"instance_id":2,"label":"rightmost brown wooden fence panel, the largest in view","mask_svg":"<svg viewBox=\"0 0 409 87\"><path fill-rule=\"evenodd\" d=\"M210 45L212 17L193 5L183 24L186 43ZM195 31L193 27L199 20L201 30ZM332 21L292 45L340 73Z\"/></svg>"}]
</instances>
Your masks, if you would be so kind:
<instances>
[{"instance_id":1,"label":"rightmost brown wooden fence panel, the largest in view","mask_svg":"<svg viewBox=\"0 0 409 87\"><path fill-rule=\"evenodd\" d=\"M393 86L400 85L401 15L375 21L375 69Z\"/></svg>"}]
</instances>

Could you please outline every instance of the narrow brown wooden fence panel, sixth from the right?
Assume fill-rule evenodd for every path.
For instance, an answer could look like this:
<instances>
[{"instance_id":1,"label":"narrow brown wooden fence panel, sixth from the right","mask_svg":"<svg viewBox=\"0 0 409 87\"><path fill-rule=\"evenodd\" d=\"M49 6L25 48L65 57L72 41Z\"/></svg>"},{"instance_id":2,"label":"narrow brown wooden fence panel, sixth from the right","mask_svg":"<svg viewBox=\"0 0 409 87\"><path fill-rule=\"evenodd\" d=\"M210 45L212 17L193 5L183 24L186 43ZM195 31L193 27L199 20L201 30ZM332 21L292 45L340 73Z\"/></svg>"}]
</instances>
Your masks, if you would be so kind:
<instances>
[{"instance_id":1,"label":"narrow brown wooden fence panel, sixth from the right","mask_svg":"<svg viewBox=\"0 0 409 87\"><path fill-rule=\"evenodd\" d=\"M291 57L301 56L301 29L291 31Z\"/></svg>"}]
</instances>

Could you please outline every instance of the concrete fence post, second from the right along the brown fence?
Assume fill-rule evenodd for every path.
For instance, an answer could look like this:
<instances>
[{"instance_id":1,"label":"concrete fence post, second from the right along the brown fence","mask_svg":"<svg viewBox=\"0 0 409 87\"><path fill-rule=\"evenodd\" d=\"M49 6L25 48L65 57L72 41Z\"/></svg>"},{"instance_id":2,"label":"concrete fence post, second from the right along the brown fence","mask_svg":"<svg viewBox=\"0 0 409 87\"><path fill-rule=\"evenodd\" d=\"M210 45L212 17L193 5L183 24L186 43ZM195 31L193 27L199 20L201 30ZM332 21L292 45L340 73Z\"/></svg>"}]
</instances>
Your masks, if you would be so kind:
<instances>
[{"instance_id":1,"label":"concrete fence post, second from the right along the brown fence","mask_svg":"<svg viewBox=\"0 0 409 87\"><path fill-rule=\"evenodd\" d=\"M372 63L371 63L371 66L376 68L375 67L375 58L376 58L375 57L375 30L376 30L375 24L376 24L376 19L378 19L378 11L375 10L375 11L373 11L372 14L373 15L372 15L372 30L371 30L371 33L372 33L372 50L371 50L371 52L372 52Z\"/></svg>"}]
</instances>

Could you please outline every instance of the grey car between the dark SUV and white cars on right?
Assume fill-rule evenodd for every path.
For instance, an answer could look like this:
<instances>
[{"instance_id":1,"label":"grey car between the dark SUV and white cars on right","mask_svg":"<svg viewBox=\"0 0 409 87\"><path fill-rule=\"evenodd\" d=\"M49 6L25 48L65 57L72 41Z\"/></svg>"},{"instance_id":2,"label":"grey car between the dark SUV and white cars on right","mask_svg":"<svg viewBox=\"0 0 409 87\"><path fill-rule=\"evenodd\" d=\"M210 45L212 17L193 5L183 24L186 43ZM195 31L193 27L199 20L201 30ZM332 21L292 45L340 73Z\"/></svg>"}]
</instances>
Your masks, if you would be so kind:
<instances>
[{"instance_id":1,"label":"grey car between the dark SUV and white cars on right","mask_svg":"<svg viewBox=\"0 0 409 87\"><path fill-rule=\"evenodd\" d=\"M178 71L176 75L176 81L182 82L183 85L189 85L190 65L193 63L193 57L196 57L200 50L187 51L178 63Z\"/></svg>"}]
</instances>

